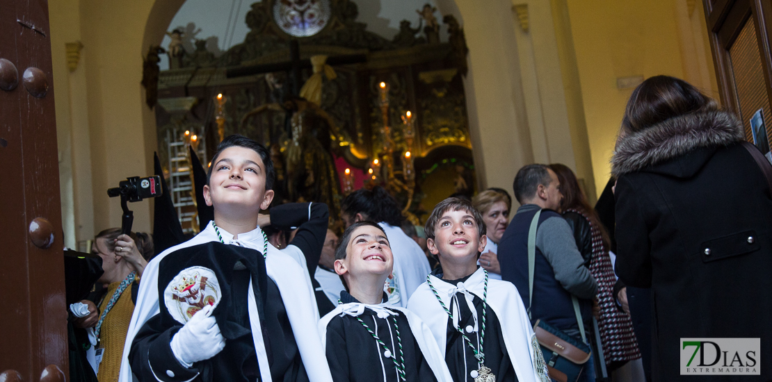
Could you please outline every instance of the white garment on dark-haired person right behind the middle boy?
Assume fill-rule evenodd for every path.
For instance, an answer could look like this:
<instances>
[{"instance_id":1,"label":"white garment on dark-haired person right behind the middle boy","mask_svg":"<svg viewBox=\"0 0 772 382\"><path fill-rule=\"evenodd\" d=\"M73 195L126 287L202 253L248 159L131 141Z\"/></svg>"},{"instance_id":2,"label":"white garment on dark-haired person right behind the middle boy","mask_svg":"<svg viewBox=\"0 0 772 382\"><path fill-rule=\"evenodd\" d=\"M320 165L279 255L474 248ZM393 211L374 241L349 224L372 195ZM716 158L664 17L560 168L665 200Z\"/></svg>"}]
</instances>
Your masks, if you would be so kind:
<instances>
[{"instance_id":1,"label":"white garment on dark-haired person right behind the middle boy","mask_svg":"<svg viewBox=\"0 0 772 382\"><path fill-rule=\"evenodd\" d=\"M402 228L388 225L384 222L378 223L384 228L391 253L394 254L394 278L399 290L398 301L389 294L389 304L391 306L408 306L408 299L416 288L425 282L426 275L432 272L429 268L429 261L418 243L415 242ZM387 291L388 293L388 291Z\"/></svg>"}]
</instances>

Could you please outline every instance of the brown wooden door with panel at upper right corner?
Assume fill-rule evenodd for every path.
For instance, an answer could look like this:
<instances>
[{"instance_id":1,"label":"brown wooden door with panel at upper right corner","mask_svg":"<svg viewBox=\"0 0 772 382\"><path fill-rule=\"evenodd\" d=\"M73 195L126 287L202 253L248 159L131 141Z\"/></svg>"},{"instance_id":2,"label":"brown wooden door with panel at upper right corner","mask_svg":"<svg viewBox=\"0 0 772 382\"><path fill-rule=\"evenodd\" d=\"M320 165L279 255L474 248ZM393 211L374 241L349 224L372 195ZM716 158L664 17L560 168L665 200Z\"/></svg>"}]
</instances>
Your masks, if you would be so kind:
<instances>
[{"instance_id":1,"label":"brown wooden door with panel at upper right corner","mask_svg":"<svg viewBox=\"0 0 772 382\"><path fill-rule=\"evenodd\" d=\"M721 102L743 122L752 140L750 118L764 110L772 127L772 4L769 0L703 0ZM767 134L767 138L770 138Z\"/></svg>"}]
</instances>

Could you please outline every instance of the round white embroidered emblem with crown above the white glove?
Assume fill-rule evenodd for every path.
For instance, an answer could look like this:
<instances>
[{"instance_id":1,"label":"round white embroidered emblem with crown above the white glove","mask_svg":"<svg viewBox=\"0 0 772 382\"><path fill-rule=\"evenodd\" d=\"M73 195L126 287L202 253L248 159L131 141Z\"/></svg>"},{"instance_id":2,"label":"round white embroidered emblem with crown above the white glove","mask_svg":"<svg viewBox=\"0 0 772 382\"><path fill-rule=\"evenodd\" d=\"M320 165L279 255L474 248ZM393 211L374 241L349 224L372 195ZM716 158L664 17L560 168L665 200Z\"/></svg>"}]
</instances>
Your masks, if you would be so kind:
<instances>
[{"instance_id":1,"label":"round white embroidered emblem with crown above the white glove","mask_svg":"<svg viewBox=\"0 0 772 382\"><path fill-rule=\"evenodd\" d=\"M202 266L183 269L164 289L166 309L182 324L187 323L204 306L217 307L221 297L215 272Z\"/></svg>"}]
</instances>

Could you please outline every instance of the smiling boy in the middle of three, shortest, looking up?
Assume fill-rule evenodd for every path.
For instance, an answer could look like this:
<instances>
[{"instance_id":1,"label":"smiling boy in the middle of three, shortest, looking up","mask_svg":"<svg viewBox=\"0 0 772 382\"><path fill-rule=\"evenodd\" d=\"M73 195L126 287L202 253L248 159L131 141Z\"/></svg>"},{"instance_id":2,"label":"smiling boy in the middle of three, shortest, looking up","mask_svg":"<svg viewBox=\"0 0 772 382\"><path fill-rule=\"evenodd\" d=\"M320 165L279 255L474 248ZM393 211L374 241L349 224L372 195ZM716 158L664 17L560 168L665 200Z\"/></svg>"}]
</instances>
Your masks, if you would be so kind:
<instances>
[{"instance_id":1,"label":"smiling boy in the middle of three, shortest, looking up","mask_svg":"<svg viewBox=\"0 0 772 382\"><path fill-rule=\"evenodd\" d=\"M388 305L383 286L394 255L383 228L371 221L347 228L334 267L347 291L321 319L319 331L336 382L452 380L425 323Z\"/></svg>"}]
</instances>

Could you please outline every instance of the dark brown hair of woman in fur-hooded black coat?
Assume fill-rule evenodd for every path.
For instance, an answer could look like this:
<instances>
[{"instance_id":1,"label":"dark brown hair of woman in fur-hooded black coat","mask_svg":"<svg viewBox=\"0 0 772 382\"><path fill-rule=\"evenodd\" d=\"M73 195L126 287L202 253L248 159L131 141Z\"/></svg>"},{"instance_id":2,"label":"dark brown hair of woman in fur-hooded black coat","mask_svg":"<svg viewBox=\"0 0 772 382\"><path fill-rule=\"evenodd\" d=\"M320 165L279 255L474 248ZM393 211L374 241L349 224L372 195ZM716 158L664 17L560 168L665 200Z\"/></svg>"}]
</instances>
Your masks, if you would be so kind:
<instances>
[{"instance_id":1,"label":"dark brown hair of woman in fur-hooded black coat","mask_svg":"<svg viewBox=\"0 0 772 382\"><path fill-rule=\"evenodd\" d=\"M716 100L690 83L671 76L653 76L633 90L625 107L622 130L635 133L672 117L717 109Z\"/></svg>"}]
</instances>

